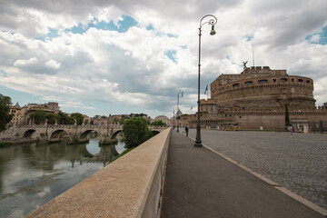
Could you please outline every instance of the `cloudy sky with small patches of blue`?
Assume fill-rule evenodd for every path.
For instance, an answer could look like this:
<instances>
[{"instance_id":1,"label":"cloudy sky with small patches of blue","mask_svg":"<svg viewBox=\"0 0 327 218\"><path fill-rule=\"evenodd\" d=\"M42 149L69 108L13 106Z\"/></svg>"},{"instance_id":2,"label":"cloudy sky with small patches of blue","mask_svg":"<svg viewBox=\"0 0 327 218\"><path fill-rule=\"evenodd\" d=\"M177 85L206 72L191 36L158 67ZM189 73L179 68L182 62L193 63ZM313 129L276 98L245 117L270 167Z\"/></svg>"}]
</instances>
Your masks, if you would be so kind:
<instances>
[{"instance_id":1,"label":"cloudy sky with small patches of blue","mask_svg":"<svg viewBox=\"0 0 327 218\"><path fill-rule=\"evenodd\" d=\"M89 116L196 112L243 62L314 81L327 102L326 0L0 0L0 94L13 104L57 102ZM208 22L209 17L203 19ZM191 108L193 108L191 110Z\"/></svg>"}]
</instances>

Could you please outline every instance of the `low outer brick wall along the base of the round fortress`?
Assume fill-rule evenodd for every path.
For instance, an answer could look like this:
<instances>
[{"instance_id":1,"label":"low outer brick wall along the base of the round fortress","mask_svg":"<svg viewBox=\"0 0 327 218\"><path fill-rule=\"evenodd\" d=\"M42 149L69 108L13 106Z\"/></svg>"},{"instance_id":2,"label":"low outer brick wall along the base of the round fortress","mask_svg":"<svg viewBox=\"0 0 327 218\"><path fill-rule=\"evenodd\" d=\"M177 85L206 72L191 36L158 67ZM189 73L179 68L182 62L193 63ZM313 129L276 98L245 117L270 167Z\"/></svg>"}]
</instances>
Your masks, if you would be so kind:
<instances>
[{"instance_id":1,"label":"low outer brick wall along the base of the round fortress","mask_svg":"<svg viewBox=\"0 0 327 218\"><path fill-rule=\"evenodd\" d=\"M305 114L303 112L289 115L295 131L302 132L303 125L308 124L311 133L319 133L321 124L323 132L327 132L327 112L316 111ZM229 113L229 114L202 114L201 128L223 129L225 124L238 124L240 130L270 130L285 131L285 114L277 113ZM197 116L194 114L182 116L179 123L181 126L189 124L190 128L196 128Z\"/></svg>"}]
</instances>

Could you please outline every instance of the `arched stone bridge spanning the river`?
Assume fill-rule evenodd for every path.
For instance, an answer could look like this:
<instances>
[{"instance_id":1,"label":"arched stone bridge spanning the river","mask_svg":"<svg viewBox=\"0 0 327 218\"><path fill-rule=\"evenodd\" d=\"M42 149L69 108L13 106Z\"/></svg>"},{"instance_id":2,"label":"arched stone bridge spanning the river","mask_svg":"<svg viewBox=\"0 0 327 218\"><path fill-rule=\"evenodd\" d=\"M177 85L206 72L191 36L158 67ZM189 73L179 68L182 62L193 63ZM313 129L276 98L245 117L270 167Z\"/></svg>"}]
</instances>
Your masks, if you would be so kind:
<instances>
[{"instance_id":1,"label":"arched stone bridge spanning the river","mask_svg":"<svg viewBox=\"0 0 327 218\"><path fill-rule=\"evenodd\" d=\"M150 126L153 132L162 132L166 126ZM16 125L0 133L2 141L31 141L46 142L60 141L63 137L69 138L71 144L82 143L89 140L89 134L95 132L100 136L100 144L110 143L115 136L123 131L121 124L89 124L89 125Z\"/></svg>"}]
</instances>

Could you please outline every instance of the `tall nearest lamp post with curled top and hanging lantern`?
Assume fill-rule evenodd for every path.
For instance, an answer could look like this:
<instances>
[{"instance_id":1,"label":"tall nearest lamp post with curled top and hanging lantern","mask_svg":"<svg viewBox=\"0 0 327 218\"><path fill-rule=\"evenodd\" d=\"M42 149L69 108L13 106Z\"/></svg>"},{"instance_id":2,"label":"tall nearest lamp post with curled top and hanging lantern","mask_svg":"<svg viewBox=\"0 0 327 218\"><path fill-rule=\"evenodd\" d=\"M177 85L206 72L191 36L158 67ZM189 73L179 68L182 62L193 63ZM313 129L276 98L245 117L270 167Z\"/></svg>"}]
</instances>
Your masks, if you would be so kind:
<instances>
[{"instance_id":1,"label":"tall nearest lamp post with curled top and hanging lantern","mask_svg":"<svg viewBox=\"0 0 327 218\"><path fill-rule=\"evenodd\" d=\"M209 21L203 23L203 19L205 17L211 17ZM201 67L201 28L203 25L208 24L212 25L212 30L210 32L210 35L215 35L214 31L214 25L217 24L217 18L214 15L205 15L200 21L200 27L199 27L199 64L198 64L198 116L197 116L197 124L196 124L196 138L195 138L195 147L202 147L202 141L201 141L201 124L200 124L200 67Z\"/></svg>"}]
</instances>

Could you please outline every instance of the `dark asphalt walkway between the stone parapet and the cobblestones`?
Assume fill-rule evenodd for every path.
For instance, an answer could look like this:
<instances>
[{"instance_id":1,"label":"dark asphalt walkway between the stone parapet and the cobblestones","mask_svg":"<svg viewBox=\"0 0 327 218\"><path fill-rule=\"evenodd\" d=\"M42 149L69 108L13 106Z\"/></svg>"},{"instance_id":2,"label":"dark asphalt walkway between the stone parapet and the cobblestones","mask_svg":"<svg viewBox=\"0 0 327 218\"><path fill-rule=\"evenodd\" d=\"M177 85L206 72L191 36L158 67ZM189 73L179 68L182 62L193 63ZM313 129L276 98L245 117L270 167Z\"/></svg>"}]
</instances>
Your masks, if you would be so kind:
<instances>
[{"instance_id":1,"label":"dark asphalt walkway between the stone parapet and the cobblestones","mask_svg":"<svg viewBox=\"0 0 327 218\"><path fill-rule=\"evenodd\" d=\"M183 134L172 132L162 217L324 217Z\"/></svg>"}]
</instances>

